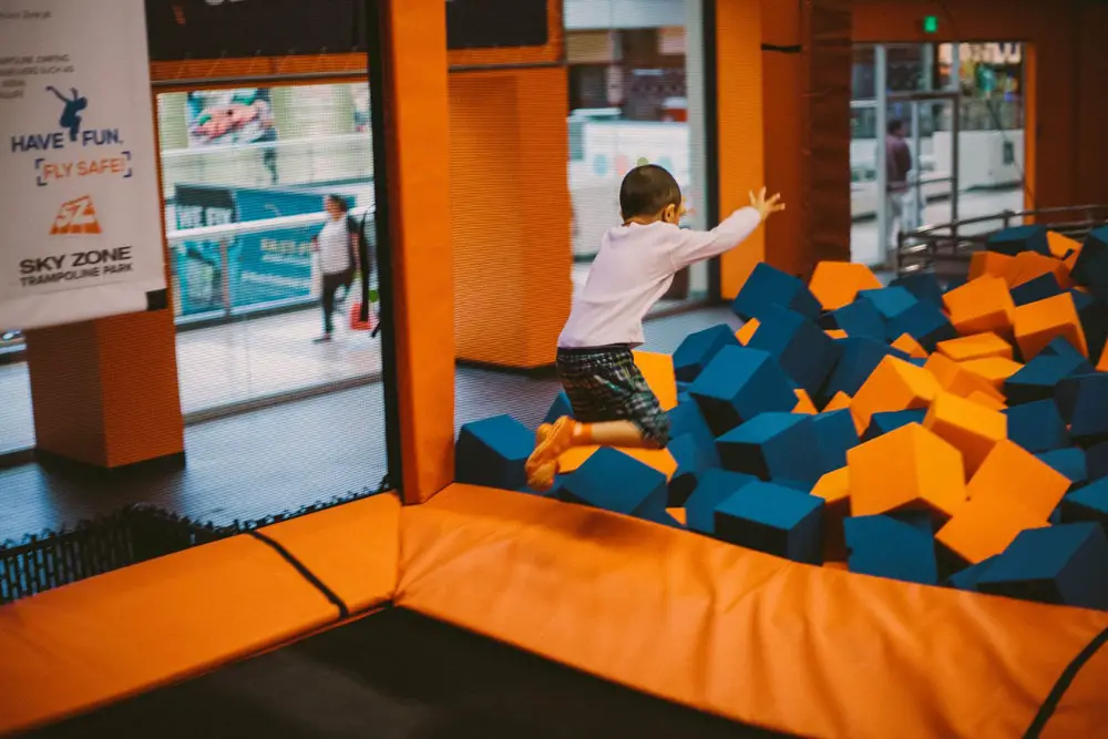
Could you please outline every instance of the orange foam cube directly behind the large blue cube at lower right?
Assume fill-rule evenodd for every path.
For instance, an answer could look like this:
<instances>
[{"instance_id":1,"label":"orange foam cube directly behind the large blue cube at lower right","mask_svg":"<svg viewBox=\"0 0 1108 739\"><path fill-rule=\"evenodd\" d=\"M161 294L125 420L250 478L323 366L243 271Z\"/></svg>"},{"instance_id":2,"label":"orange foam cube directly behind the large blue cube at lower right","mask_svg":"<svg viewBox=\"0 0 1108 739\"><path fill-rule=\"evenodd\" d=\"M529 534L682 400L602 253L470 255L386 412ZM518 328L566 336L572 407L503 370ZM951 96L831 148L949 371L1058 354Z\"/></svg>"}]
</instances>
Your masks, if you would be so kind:
<instances>
[{"instance_id":1,"label":"orange foam cube directly behind the large blue cube at lower right","mask_svg":"<svg viewBox=\"0 0 1108 739\"><path fill-rule=\"evenodd\" d=\"M938 530L935 540L970 564L1001 554L1027 528L1046 525L1019 505L997 501L970 501Z\"/></svg>"}]
</instances>

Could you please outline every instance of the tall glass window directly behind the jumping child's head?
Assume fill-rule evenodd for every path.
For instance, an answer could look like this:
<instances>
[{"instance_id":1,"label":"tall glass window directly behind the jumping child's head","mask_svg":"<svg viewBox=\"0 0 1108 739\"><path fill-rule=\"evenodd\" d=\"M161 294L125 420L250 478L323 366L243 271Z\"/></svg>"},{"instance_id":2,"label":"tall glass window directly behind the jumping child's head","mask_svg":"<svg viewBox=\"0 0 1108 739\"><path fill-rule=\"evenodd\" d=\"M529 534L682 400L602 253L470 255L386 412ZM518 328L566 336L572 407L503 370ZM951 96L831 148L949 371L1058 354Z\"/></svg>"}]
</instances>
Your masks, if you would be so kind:
<instances>
[{"instance_id":1,"label":"tall glass window directly behind the jumping child's head","mask_svg":"<svg viewBox=\"0 0 1108 739\"><path fill-rule=\"evenodd\" d=\"M639 163L669 170L702 228L704 62L700 0L570 0L568 162L574 284L620 223L619 183ZM683 271L656 310L708 297L708 265Z\"/></svg>"}]
</instances>

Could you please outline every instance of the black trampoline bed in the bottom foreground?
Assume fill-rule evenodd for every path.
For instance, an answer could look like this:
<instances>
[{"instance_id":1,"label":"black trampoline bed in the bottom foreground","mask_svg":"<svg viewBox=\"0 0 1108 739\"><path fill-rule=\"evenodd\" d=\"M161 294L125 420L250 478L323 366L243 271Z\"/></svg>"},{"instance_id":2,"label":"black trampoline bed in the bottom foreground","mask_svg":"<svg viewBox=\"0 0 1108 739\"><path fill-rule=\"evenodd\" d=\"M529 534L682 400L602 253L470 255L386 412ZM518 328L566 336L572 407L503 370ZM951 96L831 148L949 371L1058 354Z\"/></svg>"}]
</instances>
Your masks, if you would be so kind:
<instances>
[{"instance_id":1,"label":"black trampoline bed in the bottom foreground","mask_svg":"<svg viewBox=\"0 0 1108 739\"><path fill-rule=\"evenodd\" d=\"M31 736L739 739L783 735L656 700L393 609Z\"/></svg>"}]
</instances>

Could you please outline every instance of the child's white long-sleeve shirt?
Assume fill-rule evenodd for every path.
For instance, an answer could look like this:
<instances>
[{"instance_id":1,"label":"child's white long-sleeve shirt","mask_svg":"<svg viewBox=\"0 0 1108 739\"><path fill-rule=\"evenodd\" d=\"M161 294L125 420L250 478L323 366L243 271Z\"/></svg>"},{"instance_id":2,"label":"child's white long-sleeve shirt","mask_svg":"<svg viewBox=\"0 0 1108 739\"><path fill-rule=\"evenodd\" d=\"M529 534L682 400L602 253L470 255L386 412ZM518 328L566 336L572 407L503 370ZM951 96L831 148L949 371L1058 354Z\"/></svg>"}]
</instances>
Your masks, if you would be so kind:
<instances>
[{"instance_id":1,"label":"child's white long-sleeve shirt","mask_svg":"<svg viewBox=\"0 0 1108 739\"><path fill-rule=\"evenodd\" d=\"M643 343L643 318L689 265L741 244L761 224L755 208L741 208L711 230L664 222L611 228L577 294L558 347L581 349Z\"/></svg>"}]
</instances>

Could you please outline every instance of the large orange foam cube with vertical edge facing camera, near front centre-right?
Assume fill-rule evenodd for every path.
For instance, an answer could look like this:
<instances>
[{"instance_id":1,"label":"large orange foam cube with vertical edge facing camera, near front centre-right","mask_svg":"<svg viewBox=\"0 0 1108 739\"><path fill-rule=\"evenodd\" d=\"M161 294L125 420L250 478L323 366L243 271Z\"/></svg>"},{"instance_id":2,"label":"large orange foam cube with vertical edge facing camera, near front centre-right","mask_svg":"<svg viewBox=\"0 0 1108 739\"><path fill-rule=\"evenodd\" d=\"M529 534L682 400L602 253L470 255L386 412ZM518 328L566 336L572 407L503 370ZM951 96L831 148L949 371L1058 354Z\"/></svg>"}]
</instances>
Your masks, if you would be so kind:
<instances>
[{"instance_id":1,"label":"large orange foam cube with vertical edge facing camera, near front centre-right","mask_svg":"<svg viewBox=\"0 0 1108 739\"><path fill-rule=\"evenodd\" d=\"M962 452L919 423L854 447L847 466L855 516L923 510L946 520L966 501Z\"/></svg>"}]
</instances>

